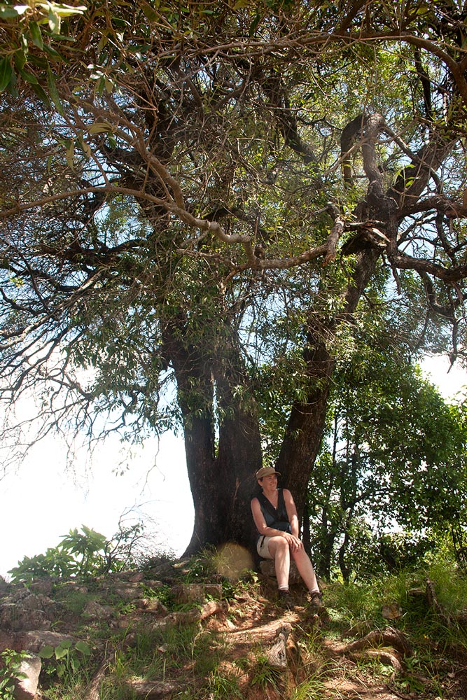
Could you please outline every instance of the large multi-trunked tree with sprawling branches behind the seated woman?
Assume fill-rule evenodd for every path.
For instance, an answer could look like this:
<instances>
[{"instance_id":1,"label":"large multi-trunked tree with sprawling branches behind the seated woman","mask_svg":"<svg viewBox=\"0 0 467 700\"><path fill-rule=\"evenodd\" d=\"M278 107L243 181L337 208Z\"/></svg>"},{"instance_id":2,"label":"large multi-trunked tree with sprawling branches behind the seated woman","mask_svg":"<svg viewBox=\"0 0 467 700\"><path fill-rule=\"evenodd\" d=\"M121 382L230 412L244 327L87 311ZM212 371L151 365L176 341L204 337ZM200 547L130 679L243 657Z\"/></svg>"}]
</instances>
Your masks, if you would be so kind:
<instances>
[{"instance_id":1,"label":"large multi-trunked tree with sprawling branches behind the seated woman","mask_svg":"<svg viewBox=\"0 0 467 700\"><path fill-rule=\"evenodd\" d=\"M449 0L0 5L2 395L43 384L44 430L178 421L190 550L251 541L277 395L302 513L335 358L379 306L398 297L413 351L448 330L461 354L463 20Z\"/></svg>"}]
</instances>

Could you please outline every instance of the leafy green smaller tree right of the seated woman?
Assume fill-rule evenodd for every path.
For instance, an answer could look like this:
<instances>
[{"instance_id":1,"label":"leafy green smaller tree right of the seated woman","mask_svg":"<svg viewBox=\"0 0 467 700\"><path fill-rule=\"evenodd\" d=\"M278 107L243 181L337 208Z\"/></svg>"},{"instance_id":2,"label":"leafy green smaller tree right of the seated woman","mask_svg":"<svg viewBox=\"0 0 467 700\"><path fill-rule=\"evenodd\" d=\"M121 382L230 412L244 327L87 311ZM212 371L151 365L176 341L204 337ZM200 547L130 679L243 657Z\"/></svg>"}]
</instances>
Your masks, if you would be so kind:
<instances>
[{"instance_id":1,"label":"leafy green smaller tree right of the seated woman","mask_svg":"<svg viewBox=\"0 0 467 700\"><path fill-rule=\"evenodd\" d=\"M355 552L365 538L382 568L396 566L403 561L404 538L391 540L387 529L411 533L416 552L423 551L426 531L467 526L462 414L400 358L372 349L357 362L341 363L328 440L309 484L310 531L322 575L338 566L348 580L361 569Z\"/></svg>"}]
</instances>

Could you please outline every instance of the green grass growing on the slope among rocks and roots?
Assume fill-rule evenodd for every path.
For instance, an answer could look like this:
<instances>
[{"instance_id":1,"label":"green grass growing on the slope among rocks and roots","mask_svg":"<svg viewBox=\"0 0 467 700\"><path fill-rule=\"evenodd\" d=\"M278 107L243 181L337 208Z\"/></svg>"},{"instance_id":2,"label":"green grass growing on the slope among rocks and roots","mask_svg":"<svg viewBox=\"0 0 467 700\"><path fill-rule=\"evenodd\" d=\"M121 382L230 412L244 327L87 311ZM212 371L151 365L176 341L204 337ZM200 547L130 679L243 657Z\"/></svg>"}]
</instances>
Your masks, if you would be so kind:
<instances>
[{"instance_id":1,"label":"green grass growing on the slope among rocks and roots","mask_svg":"<svg viewBox=\"0 0 467 700\"><path fill-rule=\"evenodd\" d=\"M180 580L212 582L211 572L211 563L204 555L181 571ZM424 592L428 577L433 581L445 618L428 605ZM250 577L237 584L229 581L225 590L231 605L235 606L232 619L238 619L239 612L244 612L247 622L248 608L244 610L242 603L237 603L235 594L258 597L261 593L258 580ZM180 608L174 603L168 586L146 589L145 593L163 602L169 610ZM88 600L98 595L98 591L85 593L76 587L57 591L57 597L75 615L80 614ZM416 572L401 571L397 575L347 585L328 584L324 599L328 622L317 625L316 619L304 615L301 622L293 626L297 659L286 677L268 664L263 645L252 647L248 654L237 658L235 647L230 647L221 633L210 631L204 622L170 624L162 628L154 618L146 617L138 623L129 619L126 629L116 629L106 622L85 621L77 634L86 638L91 647L102 650L104 640L107 649L115 650L99 700L134 700L134 692L128 685L130 678L176 679L180 691L174 692L171 700L240 698L246 697L248 688L256 695L278 694L282 700L339 700L339 693L331 691L330 686L325 685L326 680L354 680L354 675L363 683L389 682L400 694L415 693L422 695L423 700L446 696L448 673L452 674L455 667L456 654L465 657L467 651L467 632L456 622L456 615L467 609L466 578L459 571L431 562ZM106 602L102 598L102 603ZM397 619L384 619L383 606L392 603L402 610L402 615ZM125 611L125 605L120 601L114 607L121 612ZM377 658L356 661L349 671L349 662L344 657L330 659L326 653L326 644L344 645L368 631L386 626L405 633L414 647L413 656L404 659L405 671L396 678L392 678L393 668ZM99 663L98 656L93 652L86 673L80 669L60 682L51 673L48 682L43 684L43 699L84 700L86 685Z\"/></svg>"}]
</instances>

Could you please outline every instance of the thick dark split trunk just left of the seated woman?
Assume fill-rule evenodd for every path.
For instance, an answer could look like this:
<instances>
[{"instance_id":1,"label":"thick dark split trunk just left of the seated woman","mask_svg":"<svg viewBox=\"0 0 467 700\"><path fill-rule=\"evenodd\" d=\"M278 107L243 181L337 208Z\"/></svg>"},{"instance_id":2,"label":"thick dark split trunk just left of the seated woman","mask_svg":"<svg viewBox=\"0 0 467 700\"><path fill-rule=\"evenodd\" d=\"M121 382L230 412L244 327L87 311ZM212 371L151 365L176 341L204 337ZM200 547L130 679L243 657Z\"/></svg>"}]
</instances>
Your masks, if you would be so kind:
<instances>
[{"instance_id":1,"label":"thick dark split trunk just left of the seated woman","mask_svg":"<svg viewBox=\"0 0 467 700\"><path fill-rule=\"evenodd\" d=\"M256 530L250 500L256 486L255 472L261 466L261 447L256 404L247 396L246 375L232 348L224 349L229 367L228 372L221 372L219 363L209 361L193 346L183 346L179 339L179 332L166 328L165 351L176 375L195 507L186 554L225 542L252 549ZM239 385L245 392L233 395L231 386ZM223 416L217 449L215 403Z\"/></svg>"}]
</instances>

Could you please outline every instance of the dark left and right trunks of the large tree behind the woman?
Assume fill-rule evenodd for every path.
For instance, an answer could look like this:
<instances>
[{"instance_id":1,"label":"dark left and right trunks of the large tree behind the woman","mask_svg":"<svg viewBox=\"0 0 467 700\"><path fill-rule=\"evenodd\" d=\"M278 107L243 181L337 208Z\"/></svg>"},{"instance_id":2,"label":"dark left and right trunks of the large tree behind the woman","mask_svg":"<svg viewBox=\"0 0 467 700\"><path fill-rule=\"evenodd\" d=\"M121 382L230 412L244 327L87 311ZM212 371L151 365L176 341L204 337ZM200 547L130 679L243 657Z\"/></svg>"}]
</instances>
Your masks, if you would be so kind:
<instances>
[{"instance_id":1,"label":"dark left and right trunks of the large tree behind the woman","mask_svg":"<svg viewBox=\"0 0 467 700\"><path fill-rule=\"evenodd\" d=\"M375 268L377 255L371 248L361 254L354 279L346 291L346 315L354 311ZM328 321L327 330L336 323L335 319ZM176 374L195 507L193 535L186 553L230 541L253 549L256 531L249 504L256 487L254 474L261 466L262 457L256 403L249 391L239 351L235 343L225 342L218 358L213 359L183 344L181 337L180 328L166 328L165 350ZM323 336L310 329L307 374L311 389L307 402L297 403L291 409L277 461L281 482L291 489L300 520L326 421L333 367L334 358ZM238 391L239 387L242 391ZM217 449L216 403L221 416Z\"/></svg>"}]
</instances>

